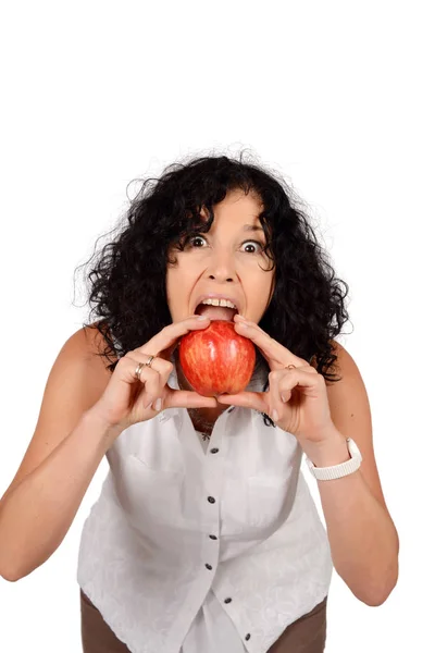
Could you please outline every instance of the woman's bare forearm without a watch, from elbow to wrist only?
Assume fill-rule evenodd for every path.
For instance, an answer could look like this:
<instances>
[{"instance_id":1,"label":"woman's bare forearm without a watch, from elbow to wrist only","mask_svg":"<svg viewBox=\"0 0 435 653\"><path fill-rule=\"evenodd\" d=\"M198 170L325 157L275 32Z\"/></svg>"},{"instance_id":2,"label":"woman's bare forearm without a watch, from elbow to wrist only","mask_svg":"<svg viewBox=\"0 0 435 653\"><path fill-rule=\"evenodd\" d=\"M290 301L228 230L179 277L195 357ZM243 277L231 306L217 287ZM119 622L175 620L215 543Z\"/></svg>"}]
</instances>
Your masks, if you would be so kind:
<instances>
[{"instance_id":1,"label":"woman's bare forearm without a watch, from elbow to wrist only","mask_svg":"<svg viewBox=\"0 0 435 653\"><path fill-rule=\"evenodd\" d=\"M0 574L10 581L42 565L67 533L105 452L122 429L91 410L0 505Z\"/></svg>"}]
</instances>

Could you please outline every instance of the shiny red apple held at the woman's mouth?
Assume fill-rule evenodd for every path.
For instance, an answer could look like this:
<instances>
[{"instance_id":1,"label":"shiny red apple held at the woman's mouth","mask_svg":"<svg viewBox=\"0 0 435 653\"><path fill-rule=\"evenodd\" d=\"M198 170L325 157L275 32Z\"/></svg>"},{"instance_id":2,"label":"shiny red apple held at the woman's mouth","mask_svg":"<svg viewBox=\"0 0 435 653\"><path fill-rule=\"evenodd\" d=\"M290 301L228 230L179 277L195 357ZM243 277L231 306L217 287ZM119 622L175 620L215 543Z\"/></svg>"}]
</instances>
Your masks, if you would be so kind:
<instances>
[{"instance_id":1,"label":"shiny red apple held at the woman's mouth","mask_svg":"<svg viewBox=\"0 0 435 653\"><path fill-rule=\"evenodd\" d=\"M248 385L256 365L252 342L239 335L234 322L212 320L179 342L179 364L192 389L206 397L236 394Z\"/></svg>"}]
</instances>

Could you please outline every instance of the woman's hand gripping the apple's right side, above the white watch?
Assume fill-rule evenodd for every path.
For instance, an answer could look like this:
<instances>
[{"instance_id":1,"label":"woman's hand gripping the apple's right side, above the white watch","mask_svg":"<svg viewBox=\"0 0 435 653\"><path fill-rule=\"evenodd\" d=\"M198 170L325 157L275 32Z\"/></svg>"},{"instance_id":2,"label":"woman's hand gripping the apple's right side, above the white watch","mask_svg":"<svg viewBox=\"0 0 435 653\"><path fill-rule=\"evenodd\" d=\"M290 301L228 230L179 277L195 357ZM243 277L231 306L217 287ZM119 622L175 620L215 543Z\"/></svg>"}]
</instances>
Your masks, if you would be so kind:
<instances>
[{"instance_id":1,"label":"woman's hand gripping the apple's right side, above the white watch","mask_svg":"<svg viewBox=\"0 0 435 653\"><path fill-rule=\"evenodd\" d=\"M322 374L273 340L256 322L238 315L234 321L236 332L250 338L268 361L271 369L269 390L223 394L216 397L217 402L265 412L279 429L312 443L321 443L336 432Z\"/></svg>"}]
</instances>

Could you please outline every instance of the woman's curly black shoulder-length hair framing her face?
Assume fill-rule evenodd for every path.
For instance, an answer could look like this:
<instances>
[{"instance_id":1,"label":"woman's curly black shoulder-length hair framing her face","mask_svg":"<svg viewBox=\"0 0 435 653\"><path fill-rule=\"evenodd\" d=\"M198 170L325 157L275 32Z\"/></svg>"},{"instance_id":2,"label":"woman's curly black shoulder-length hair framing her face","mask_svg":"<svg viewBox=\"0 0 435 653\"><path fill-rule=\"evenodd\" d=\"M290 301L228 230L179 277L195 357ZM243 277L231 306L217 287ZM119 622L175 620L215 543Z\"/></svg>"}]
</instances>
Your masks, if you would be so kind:
<instances>
[{"instance_id":1,"label":"woman's curly black shoulder-length hair framing her face","mask_svg":"<svg viewBox=\"0 0 435 653\"><path fill-rule=\"evenodd\" d=\"M311 365L315 360L326 381L340 380L333 373L337 356L332 341L349 319L345 308L349 286L335 278L296 193L277 173L243 159L243 153L239 160L197 157L166 167L160 178L145 180L129 202L127 224L92 255L90 261L95 256L97 261L87 275L88 301L96 306L83 325L103 336L107 348L98 355L109 361L111 371L116 354L142 346L172 322L165 288L166 268L174 262L171 250L183 249L191 234L207 233L213 207L228 192L241 189L261 200L265 254L275 269L274 293L260 328L296 356ZM202 208L207 223L199 215ZM92 315L99 317L97 322Z\"/></svg>"}]
</instances>

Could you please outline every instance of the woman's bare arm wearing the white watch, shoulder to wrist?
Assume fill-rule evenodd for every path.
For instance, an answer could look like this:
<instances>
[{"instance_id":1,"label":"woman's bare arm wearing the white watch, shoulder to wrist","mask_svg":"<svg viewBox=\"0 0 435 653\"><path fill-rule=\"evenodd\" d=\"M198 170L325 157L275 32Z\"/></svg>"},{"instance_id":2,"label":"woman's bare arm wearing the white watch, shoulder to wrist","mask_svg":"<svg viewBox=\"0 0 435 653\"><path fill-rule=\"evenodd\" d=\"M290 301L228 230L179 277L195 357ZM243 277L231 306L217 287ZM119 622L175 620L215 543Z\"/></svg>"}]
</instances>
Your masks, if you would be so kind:
<instances>
[{"instance_id":1,"label":"woman's bare arm wearing the white watch, shoulder to wrist","mask_svg":"<svg viewBox=\"0 0 435 653\"><path fill-rule=\"evenodd\" d=\"M316 467L348 460L346 438L352 438L361 451L360 469L318 485L336 571L360 601L374 606L384 603L397 584L399 537L377 472L362 377L350 354L335 346L341 380L327 386L335 428L323 445L304 449Z\"/></svg>"}]
</instances>

